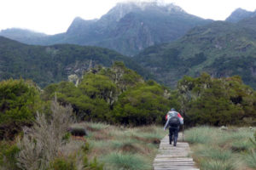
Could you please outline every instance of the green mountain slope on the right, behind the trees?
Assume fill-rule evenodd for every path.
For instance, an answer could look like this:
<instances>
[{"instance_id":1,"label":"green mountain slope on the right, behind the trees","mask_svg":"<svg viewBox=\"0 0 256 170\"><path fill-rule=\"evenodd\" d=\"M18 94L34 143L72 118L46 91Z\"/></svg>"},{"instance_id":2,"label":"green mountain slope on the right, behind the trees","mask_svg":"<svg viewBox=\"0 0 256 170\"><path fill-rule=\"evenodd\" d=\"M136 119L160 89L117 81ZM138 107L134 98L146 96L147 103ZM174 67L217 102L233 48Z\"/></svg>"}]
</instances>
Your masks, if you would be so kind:
<instances>
[{"instance_id":1,"label":"green mountain slope on the right, behind the trees","mask_svg":"<svg viewBox=\"0 0 256 170\"><path fill-rule=\"evenodd\" d=\"M184 75L206 71L212 77L239 75L256 88L256 30L239 23L215 21L195 27L176 42L146 48L135 59L172 87Z\"/></svg>"}]
</instances>

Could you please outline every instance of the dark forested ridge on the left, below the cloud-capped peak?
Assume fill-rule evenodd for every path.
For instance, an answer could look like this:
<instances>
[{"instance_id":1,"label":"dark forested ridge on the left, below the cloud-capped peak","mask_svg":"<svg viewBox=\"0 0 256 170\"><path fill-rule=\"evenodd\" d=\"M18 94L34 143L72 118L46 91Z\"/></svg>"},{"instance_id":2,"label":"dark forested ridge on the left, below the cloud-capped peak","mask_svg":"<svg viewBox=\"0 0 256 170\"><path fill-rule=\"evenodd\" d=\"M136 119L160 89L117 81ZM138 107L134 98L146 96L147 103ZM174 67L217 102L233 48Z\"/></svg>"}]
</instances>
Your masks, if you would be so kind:
<instances>
[{"instance_id":1,"label":"dark forested ridge on the left, below the cloud-capped peak","mask_svg":"<svg viewBox=\"0 0 256 170\"><path fill-rule=\"evenodd\" d=\"M107 48L33 46L0 37L0 81L23 77L44 87L52 82L67 80L71 75L82 77L89 68L96 65L110 66L115 60L123 61L141 75L148 75L131 58Z\"/></svg>"}]
</instances>

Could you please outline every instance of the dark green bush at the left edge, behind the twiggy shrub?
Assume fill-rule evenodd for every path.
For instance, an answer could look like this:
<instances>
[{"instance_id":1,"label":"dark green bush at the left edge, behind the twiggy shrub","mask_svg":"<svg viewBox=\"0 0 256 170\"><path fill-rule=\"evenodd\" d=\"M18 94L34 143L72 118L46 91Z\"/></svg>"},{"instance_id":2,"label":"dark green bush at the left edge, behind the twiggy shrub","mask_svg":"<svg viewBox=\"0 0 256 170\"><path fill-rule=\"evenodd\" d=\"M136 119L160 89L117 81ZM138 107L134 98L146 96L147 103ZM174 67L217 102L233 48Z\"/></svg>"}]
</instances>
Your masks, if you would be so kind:
<instances>
[{"instance_id":1,"label":"dark green bush at the left edge, behind the twiggy shrub","mask_svg":"<svg viewBox=\"0 0 256 170\"><path fill-rule=\"evenodd\" d=\"M0 140L14 139L24 125L31 125L41 107L39 91L32 82L0 82Z\"/></svg>"}]
</instances>

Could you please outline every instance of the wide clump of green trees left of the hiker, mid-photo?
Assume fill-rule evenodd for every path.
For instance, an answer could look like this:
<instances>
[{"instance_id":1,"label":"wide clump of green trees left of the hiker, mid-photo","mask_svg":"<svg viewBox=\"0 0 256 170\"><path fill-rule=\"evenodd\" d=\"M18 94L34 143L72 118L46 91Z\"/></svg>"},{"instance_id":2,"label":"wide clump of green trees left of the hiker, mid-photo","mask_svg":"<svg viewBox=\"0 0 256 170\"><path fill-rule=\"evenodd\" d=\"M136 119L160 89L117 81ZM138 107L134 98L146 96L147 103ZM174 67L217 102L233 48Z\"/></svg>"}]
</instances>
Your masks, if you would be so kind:
<instances>
[{"instance_id":1,"label":"wide clump of green trees left of the hiker, mid-photo","mask_svg":"<svg viewBox=\"0 0 256 170\"><path fill-rule=\"evenodd\" d=\"M88 71L77 87L73 82L51 84L44 89L44 99L55 93L62 105L73 105L79 120L130 125L163 123L172 103L166 88L144 82L120 62Z\"/></svg>"}]
</instances>

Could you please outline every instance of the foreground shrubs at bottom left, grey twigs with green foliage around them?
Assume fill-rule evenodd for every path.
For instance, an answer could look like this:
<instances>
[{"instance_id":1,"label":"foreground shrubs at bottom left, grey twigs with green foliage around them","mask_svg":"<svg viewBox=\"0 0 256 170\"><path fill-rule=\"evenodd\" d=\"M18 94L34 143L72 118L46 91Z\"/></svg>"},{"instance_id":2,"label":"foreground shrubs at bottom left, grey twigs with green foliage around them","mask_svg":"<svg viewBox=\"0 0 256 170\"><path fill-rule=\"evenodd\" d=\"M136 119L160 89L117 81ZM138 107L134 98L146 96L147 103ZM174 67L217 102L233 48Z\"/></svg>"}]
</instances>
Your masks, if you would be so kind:
<instances>
[{"instance_id":1,"label":"foreground shrubs at bottom left, grey twigs with green foliage around them","mask_svg":"<svg viewBox=\"0 0 256 170\"><path fill-rule=\"evenodd\" d=\"M102 170L96 159L88 159L85 139L71 139L67 133L72 124L72 108L54 100L48 119L38 113L33 126L23 127L14 141L0 141L0 169Z\"/></svg>"}]
</instances>

